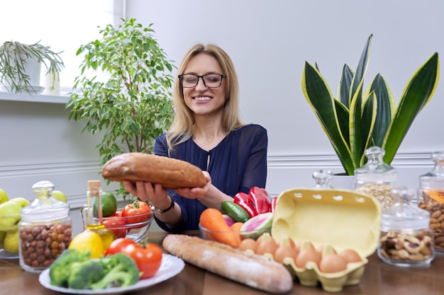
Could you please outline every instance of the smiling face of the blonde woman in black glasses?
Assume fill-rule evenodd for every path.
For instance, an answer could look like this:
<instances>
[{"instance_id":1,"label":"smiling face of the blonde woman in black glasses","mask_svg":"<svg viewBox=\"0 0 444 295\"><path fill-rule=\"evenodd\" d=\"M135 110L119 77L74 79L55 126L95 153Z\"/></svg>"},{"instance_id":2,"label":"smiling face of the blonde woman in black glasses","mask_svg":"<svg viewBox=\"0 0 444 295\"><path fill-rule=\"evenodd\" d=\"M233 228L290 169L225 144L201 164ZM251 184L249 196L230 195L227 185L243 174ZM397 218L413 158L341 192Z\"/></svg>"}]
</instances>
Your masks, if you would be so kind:
<instances>
[{"instance_id":1,"label":"smiling face of the blonde woman in black glasses","mask_svg":"<svg viewBox=\"0 0 444 295\"><path fill-rule=\"evenodd\" d=\"M217 60L209 54L197 54L189 60L184 74L225 74ZM209 88L199 79L195 87L183 88L184 100L194 115L221 115L226 100L224 79L218 88Z\"/></svg>"}]
</instances>

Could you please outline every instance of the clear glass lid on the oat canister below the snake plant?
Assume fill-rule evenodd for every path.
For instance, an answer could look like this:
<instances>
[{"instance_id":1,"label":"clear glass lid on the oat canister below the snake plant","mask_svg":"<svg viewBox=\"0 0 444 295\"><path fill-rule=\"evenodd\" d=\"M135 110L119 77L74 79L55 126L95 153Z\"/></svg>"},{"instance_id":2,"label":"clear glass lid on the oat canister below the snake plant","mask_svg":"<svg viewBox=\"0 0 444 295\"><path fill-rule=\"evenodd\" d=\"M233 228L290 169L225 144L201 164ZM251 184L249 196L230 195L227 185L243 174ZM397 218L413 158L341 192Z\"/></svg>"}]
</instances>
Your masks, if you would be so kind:
<instances>
[{"instance_id":1,"label":"clear glass lid on the oat canister below the snake plant","mask_svg":"<svg viewBox=\"0 0 444 295\"><path fill-rule=\"evenodd\" d=\"M365 150L367 163L355 169L355 187L363 183L387 183L396 185L398 173L396 169L384 163L384 149L372 146Z\"/></svg>"}]
</instances>

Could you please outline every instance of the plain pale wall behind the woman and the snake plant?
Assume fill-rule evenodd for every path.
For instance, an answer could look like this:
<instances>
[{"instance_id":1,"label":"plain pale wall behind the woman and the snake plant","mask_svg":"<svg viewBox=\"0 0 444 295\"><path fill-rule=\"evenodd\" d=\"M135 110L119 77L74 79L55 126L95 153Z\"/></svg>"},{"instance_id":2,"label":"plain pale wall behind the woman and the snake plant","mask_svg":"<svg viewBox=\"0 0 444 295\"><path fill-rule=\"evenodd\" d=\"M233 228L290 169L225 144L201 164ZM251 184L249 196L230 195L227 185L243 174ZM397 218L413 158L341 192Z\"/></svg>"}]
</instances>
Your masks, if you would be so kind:
<instances>
[{"instance_id":1,"label":"plain pale wall behind the woman and the snake plant","mask_svg":"<svg viewBox=\"0 0 444 295\"><path fill-rule=\"evenodd\" d=\"M316 62L336 93L343 64L355 69L373 34L366 81L381 73L398 101L414 71L433 52L444 54L443 12L440 0L126 2L126 16L154 23L177 65L195 42L216 43L231 55L243 118L268 130L272 193L313 185L318 168L343 172L301 91L304 62ZM418 175L431 168L431 152L444 149L443 96L438 85L392 162L405 185L416 187Z\"/></svg>"}]
</instances>

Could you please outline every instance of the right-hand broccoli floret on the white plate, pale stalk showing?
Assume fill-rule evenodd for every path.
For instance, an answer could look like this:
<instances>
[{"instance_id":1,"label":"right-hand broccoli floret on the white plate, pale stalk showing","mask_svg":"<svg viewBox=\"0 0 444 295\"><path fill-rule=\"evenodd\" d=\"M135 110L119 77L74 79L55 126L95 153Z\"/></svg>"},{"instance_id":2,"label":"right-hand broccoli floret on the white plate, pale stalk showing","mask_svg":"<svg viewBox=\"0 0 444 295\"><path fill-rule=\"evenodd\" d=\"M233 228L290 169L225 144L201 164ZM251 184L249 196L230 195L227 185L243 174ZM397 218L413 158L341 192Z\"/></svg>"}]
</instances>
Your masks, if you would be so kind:
<instances>
[{"instance_id":1,"label":"right-hand broccoli floret on the white plate, pale stalk showing","mask_svg":"<svg viewBox=\"0 0 444 295\"><path fill-rule=\"evenodd\" d=\"M106 289L111 287L126 287L138 282L140 272L133 258L123 253L100 258L105 270L105 276L91 284L91 289Z\"/></svg>"}]
</instances>

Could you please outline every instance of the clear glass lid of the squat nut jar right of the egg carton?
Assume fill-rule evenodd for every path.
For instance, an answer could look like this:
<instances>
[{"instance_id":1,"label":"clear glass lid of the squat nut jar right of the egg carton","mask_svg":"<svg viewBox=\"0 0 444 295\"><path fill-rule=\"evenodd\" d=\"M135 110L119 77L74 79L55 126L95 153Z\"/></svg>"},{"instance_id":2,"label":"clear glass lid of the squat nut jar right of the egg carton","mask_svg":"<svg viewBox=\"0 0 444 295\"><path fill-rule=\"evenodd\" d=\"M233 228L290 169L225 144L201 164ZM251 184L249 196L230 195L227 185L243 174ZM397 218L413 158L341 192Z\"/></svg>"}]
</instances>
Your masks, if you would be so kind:
<instances>
[{"instance_id":1,"label":"clear glass lid of the squat nut jar right of the egg carton","mask_svg":"<svg viewBox=\"0 0 444 295\"><path fill-rule=\"evenodd\" d=\"M411 204L414 195L408 187L392 189L395 204L382 211L382 231L418 231L429 227L430 212Z\"/></svg>"}]
</instances>

